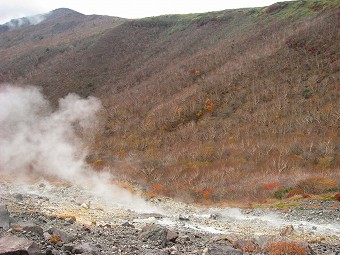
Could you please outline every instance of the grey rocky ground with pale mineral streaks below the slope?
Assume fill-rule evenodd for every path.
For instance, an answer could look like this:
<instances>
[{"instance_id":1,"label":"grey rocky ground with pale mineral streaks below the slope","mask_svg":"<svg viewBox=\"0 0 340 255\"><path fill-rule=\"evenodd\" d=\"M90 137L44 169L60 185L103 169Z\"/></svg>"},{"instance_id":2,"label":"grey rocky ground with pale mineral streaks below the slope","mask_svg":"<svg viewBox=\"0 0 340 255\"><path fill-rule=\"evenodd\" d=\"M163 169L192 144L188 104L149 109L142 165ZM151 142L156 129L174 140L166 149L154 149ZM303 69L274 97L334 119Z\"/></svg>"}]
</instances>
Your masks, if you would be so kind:
<instances>
[{"instance_id":1,"label":"grey rocky ground with pale mineral streaks below the slope","mask_svg":"<svg viewBox=\"0 0 340 255\"><path fill-rule=\"evenodd\" d=\"M340 203L128 209L67 184L0 181L0 237L0 254L337 254Z\"/></svg>"}]
</instances>

